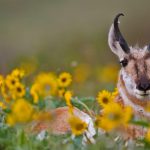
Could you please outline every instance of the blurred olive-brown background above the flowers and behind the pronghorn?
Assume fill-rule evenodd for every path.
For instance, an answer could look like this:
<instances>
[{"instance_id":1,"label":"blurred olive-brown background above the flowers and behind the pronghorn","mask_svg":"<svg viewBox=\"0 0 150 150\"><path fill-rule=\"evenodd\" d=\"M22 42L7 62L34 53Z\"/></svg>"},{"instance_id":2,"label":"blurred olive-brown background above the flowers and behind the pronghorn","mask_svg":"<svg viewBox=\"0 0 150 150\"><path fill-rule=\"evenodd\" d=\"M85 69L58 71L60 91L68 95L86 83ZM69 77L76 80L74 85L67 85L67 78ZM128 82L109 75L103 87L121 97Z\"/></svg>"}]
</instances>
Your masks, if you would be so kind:
<instances>
[{"instance_id":1,"label":"blurred olive-brown background above the flowers and behind the pronghorn","mask_svg":"<svg viewBox=\"0 0 150 150\"><path fill-rule=\"evenodd\" d=\"M149 0L0 0L0 73L67 71L78 95L112 90L119 63L107 35L119 12L129 45L150 43Z\"/></svg>"}]
</instances>

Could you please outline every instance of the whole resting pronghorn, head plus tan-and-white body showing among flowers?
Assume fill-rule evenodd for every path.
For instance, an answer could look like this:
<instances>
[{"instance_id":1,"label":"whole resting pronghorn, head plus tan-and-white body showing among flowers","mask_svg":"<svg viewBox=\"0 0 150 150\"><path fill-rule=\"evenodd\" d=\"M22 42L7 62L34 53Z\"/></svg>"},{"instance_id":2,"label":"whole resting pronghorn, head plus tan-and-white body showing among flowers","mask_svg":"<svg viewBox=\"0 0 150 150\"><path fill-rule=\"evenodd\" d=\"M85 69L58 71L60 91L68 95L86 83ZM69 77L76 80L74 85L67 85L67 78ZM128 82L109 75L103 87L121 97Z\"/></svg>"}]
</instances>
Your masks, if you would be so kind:
<instances>
[{"instance_id":1,"label":"whole resting pronghorn, head plus tan-and-white body showing among flowers","mask_svg":"<svg viewBox=\"0 0 150 150\"><path fill-rule=\"evenodd\" d=\"M123 14L120 13L115 17L108 36L109 46L119 57L122 66L119 73L119 95L116 97L116 102L131 106L136 117L150 119L150 113L144 110L150 100L150 46L142 49L129 47L118 27L120 16ZM36 129L51 128L52 132L57 134L65 134L70 131L68 108L60 107L53 110L52 113L55 115L52 124L39 122ZM95 130L90 116L77 108L74 109L74 113L89 124L87 134L92 137ZM145 130L136 126L131 126L126 131L133 137L145 134Z\"/></svg>"}]
</instances>

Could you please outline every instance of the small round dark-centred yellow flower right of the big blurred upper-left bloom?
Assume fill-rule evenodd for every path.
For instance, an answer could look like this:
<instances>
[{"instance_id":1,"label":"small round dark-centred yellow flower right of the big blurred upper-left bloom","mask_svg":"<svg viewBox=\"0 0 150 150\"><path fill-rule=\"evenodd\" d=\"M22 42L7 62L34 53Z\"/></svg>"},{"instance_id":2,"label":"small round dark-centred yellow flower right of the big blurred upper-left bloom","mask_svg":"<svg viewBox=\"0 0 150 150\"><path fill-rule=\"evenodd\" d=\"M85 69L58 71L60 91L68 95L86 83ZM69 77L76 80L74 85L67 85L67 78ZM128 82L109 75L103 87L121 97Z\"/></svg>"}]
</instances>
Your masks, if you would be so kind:
<instances>
[{"instance_id":1,"label":"small round dark-centred yellow flower right of the big blurred upper-left bloom","mask_svg":"<svg viewBox=\"0 0 150 150\"><path fill-rule=\"evenodd\" d=\"M63 72L59 75L58 77L58 85L60 87L68 87L72 82L72 76L67 73L67 72Z\"/></svg>"}]
</instances>

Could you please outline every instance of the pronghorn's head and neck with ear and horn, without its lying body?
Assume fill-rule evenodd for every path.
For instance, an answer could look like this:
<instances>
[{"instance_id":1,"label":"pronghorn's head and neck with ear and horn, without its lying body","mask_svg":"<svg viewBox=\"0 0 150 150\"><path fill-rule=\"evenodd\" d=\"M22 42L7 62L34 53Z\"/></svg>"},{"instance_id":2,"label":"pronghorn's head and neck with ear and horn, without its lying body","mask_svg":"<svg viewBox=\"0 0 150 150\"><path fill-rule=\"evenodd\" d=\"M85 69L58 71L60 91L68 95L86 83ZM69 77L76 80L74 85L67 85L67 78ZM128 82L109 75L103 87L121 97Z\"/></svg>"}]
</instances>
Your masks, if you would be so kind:
<instances>
[{"instance_id":1,"label":"pronghorn's head and neck with ear and horn, without its lying body","mask_svg":"<svg viewBox=\"0 0 150 150\"><path fill-rule=\"evenodd\" d=\"M119 100L131 106L136 115L150 119L150 113L144 109L150 100L150 45L129 47L118 27L120 16L124 15L115 17L108 35L108 44L122 66L117 85Z\"/></svg>"}]
</instances>

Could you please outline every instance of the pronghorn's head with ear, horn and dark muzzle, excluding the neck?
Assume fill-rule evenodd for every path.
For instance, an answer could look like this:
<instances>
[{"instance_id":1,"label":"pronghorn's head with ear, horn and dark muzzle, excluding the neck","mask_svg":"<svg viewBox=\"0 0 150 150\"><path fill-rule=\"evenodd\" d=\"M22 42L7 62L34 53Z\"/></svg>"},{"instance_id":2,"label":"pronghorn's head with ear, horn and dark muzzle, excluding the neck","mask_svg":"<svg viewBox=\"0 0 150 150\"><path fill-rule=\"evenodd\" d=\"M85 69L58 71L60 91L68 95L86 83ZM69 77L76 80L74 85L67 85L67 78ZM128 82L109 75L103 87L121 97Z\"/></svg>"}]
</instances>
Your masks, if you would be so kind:
<instances>
[{"instance_id":1,"label":"pronghorn's head with ear, horn and dark muzzle, excluding the neck","mask_svg":"<svg viewBox=\"0 0 150 150\"><path fill-rule=\"evenodd\" d=\"M129 47L119 27L118 14L110 28L108 43L119 57L122 66L120 76L127 92L139 100L150 100L150 46Z\"/></svg>"}]
</instances>

